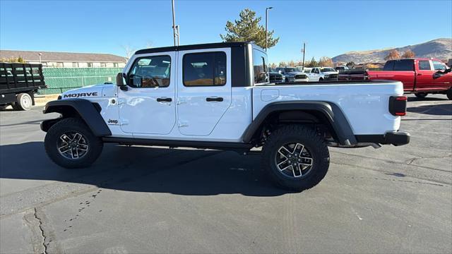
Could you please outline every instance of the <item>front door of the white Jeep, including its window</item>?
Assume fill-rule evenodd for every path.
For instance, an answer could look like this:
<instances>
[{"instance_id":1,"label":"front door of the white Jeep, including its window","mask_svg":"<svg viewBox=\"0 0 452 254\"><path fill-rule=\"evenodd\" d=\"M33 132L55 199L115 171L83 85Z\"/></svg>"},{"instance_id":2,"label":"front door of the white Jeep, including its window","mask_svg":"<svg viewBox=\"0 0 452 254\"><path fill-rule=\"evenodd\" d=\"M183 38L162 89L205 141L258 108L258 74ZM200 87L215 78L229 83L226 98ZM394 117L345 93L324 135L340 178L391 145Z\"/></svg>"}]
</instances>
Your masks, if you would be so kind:
<instances>
[{"instance_id":1,"label":"front door of the white Jeep, including its window","mask_svg":"<svg viewBox=\"0 0 452 254\"><path fill-rule=\"evenodd\" d=\"M126 73L127 90L118 90L121 130L168 134L176 123L176 53L135 56Z\"/></svg>"}]
</instances>

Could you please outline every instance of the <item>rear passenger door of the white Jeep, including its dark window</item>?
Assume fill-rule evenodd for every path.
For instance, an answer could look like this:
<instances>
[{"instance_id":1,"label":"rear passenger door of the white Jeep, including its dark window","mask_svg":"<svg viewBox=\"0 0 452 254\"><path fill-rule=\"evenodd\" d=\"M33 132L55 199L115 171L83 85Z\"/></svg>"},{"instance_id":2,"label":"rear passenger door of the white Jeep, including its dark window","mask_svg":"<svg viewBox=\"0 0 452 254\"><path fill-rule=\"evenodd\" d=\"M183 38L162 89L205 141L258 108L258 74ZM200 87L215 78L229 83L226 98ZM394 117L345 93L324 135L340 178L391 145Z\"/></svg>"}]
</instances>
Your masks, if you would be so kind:
<instances>
[{"instance_id":1,"label":"rear passenger door of the white Jeep, including its dark window","mask_svg":"<svg viewBox=\"0 0 452 254\"><path fill-rule=\"evenodd\" d=\"M231 104L230 48L179 52L177 119L183 135L209 135Z\"/></svg>"}]
</instances>

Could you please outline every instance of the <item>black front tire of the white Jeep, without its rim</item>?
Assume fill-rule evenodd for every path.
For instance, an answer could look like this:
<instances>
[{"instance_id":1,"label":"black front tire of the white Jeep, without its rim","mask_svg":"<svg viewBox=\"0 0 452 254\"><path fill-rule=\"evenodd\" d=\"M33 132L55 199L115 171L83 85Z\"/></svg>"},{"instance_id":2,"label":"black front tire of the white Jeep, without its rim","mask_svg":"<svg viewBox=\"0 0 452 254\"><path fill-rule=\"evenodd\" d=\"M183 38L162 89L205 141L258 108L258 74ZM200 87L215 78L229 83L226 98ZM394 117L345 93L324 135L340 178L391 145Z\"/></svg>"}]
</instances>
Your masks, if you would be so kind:
<instances>
[{"instance_id":1,"label":"black front tire of the white Jeep, without its rim","mask_svg":"<svg viewBox=\"0 0 452 254\"><path fill-rule=\"evenodd\" d=\"M88 145L88 150L85 154L76 159L69 159L64 157L59 151L59 139L65 133L80 133L83 140ZM53 162L66 169L76 169L89 167L102 152L103 143L100 138L97 138L93 132L86 126L85 122L77 118L62 119L55 123L44 139L44 147L47 155Z\"/></svg>"}]
</instances>

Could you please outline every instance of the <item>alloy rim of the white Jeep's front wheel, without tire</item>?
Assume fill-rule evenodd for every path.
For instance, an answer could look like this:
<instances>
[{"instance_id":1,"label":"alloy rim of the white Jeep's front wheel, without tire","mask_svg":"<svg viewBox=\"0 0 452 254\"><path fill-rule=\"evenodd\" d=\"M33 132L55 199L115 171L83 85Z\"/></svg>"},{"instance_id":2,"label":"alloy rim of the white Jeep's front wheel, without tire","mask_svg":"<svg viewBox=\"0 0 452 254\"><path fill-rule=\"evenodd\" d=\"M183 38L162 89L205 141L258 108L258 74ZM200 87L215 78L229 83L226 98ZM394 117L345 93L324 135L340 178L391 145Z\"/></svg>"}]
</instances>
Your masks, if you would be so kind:
<instances>
[{"instance_id":1,"label":"alloy rim of the white Jeep's front wheel, without tire","mask_svg":"<svg viewBox=\"0 0 452 254\"><path fill-rule=\"evenodd\" d=\"M88 143L81 133L67 132L57 141L58 152L66 159L80 159L88 152Z\"/></svg>"}]
</instances>

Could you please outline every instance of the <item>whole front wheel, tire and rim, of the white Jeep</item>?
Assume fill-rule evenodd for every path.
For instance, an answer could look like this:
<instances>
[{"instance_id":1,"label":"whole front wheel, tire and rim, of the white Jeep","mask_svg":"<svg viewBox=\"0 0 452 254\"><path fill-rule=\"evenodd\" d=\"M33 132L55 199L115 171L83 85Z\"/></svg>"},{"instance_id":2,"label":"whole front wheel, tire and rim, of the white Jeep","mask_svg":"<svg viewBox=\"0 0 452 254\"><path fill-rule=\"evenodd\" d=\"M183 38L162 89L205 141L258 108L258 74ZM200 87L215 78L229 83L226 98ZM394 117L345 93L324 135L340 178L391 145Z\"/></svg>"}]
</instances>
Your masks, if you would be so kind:
<instances>
[{"instance_id":1,"label":"whole front wheel, tire and rim, of the white Jeep","mask_svg":"<svg viewBox=\"0 0 452 254\"><path fill-rule=\"evenodd\" d=\"M44 139L47 155L53 162L68 169L89 167L103 143L81 119L67 118L55 123Z\"/></svg>"}]
</instances>

